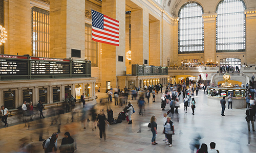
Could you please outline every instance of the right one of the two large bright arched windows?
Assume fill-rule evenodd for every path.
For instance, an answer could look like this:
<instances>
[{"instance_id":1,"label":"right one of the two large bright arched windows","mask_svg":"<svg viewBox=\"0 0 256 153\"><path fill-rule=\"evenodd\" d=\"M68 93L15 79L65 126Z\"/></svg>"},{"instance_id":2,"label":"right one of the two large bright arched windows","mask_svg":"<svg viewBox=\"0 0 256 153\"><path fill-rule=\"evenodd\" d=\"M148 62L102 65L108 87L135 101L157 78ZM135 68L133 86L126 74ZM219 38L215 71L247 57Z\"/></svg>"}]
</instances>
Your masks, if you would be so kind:
<instances>
[{"instance_id":1,"label":"right one of the two large bright arched windows","mask_svg":"<svg viewBox=\"0 0 256 153\"><path fill-rule=\"evenodd\" d=\"M245 52L245 4L222 0L216 9L216 52Z\"/></svg>"}]
</instances>

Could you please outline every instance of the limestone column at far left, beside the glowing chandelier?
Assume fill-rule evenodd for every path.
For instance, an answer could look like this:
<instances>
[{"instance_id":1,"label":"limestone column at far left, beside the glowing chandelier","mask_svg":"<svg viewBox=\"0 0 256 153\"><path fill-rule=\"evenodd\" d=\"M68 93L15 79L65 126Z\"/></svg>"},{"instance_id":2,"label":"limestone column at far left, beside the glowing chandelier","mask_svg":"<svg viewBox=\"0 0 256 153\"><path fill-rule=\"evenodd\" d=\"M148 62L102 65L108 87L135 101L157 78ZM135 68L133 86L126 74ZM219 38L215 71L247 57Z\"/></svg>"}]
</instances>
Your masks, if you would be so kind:
<instances>
[{"instance_id":1,"label":"limestone column at far left, beside the glowing chandelier","mask_svg":"<svg viewBox=\"0 0 256 153\"><path fill-rule=\"evenodd\" d=\"M30 1L4 1L4 25L7 40L4 54L31 55L31 6Z\"/></svg>"}]
</instances>

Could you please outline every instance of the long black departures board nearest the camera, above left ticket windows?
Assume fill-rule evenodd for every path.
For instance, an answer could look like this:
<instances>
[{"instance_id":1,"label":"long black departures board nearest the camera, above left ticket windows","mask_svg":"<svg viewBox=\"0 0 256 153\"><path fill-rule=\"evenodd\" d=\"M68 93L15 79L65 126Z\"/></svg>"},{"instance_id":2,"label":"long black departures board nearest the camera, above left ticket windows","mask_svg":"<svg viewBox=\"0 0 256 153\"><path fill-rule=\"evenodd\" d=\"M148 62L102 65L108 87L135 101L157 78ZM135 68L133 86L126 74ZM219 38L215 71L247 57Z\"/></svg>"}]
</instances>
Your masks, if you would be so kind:
<instances>
[{"instance_id":1,"label":"long black departures board nearest the camera, above left ticket windows","mask_svg":"<svg viewBox=\"0 0 256 153\"><path fill-rule=\"evenodd\" d=\"M0 55L0 74L2 76L87 74L86 64L87 61L81 60Z\"/></svg>"}]
</instances>

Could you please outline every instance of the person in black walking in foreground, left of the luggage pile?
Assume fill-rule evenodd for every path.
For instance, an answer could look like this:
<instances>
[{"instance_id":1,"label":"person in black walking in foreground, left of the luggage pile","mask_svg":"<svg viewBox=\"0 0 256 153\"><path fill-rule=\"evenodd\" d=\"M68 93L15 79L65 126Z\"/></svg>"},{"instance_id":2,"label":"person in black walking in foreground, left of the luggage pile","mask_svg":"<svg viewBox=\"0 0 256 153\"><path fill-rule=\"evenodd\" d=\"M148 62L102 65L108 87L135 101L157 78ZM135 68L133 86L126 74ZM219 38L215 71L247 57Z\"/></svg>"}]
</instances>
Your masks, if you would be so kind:
<instances>
[{"instance_id":1,"label":"person in black walking in foreground, left of the luggage pile","mask_svg":"<svg viewBox=\"0 0 256 153\"><path fill-rule=\"evenodd\" d=\"M106 140L105 124L107 123L107 121L106 121L106 116L103 110L100 110L100 113L98 114L98 117L97 117L97 121L98 121L98 127L99 127L100 140L102 139L102 135L104 137L104 140Z\"/></svg>"}]
</instances>

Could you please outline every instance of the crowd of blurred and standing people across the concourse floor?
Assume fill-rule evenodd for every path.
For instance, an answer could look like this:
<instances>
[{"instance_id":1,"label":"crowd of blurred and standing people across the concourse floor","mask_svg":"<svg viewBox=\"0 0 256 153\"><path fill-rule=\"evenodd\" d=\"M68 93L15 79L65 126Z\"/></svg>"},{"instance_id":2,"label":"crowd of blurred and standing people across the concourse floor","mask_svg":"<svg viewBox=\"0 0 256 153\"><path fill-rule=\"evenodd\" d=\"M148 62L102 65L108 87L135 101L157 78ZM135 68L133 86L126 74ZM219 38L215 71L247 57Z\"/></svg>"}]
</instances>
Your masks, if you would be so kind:
<instances>
[{"instance_id":1,"label":"crowd of blurred and standing people across the concourse floor","mask_svg":"<svg viewBox=\"0 0 256 153\"><path fill-rule=\"evenodd\" d=\"M253 78L254 79L254 78ZM132 124L132 114L135 113L134 111L134 106L132 105L131 101L129 101L129 97L133 100L136 100L137 98L137 105L139 107L139 115L143 116L143 111L145 111L145 105L149 103L156 103L156 95L161 94L161 110L165 111L168 108L166 106L169 106L169 110L167 113L163 112L163 134L165 135L164 142L166 145L169 147L173 146L173 138L172 136L175 134L175 128L174 128L174 122L172 119L174 119L175 114L179 114L178 109L180 108L180 105L184 105L184 113L187 114L187 107L191 107L191 115L195 115L195 109L196 109L196 100L195 100L195 95L198 95L198 91L200 88L200 85L196 86L191 82L192 86L187 87L185 83L183 84L168 84L165 88L165 91L163 91L163 86L161 84L158 85L149 85L149 86L144 86L144 89L140 90L141 87L133 88L132 90L128 90L126 87L122 90L119 89L110 89L107 92L107 98L101 99L100 100L100 105L103 105L103 107L106 106L106 110L111 110L110 103L112 103L112 97L114 97L115 100L115 106L118 106L119 108L123 109L123 112L126 114L127 122L128 124ZM206 86L203 86L202 89L204 90ZM248 90L249 91L249 90ZM182 96L181 96L182 95ZM232 95L228 95L228 109L230 106L230 109L232 109ZM146 100L145 100L146 99ZM106 125L111 124L109 122L108 118L106 117L104 110L100 109L99 114L97 114L97 107L96 105L91 105L91 104L86 104L84 100L84 94L81 95L81 102L82 102L82 108L79 110L76 110L75 108L75 101L76 99L71 95L71 97L67 96L65 99L64 105L59 107L59 109L55 110L54 115L52 116L52 122L51 125L55 125L57 123L57 130L58 133L60 133L60 125L61 125L61 116L65 112L71 112L71 118L67 118L67 123L71 119L71 122L74 121L75 114L77 114L77 119L81 121L81 123L84 124L84 129L86 129L86 123L92 121L92 131L96 130L97 128L99 129L99 137L100 139L106 140L106 133L105 133L105 127ZM147 103L146 103L147 102ZM246 103L247 103L247 110L246 110L246 118L247 118L247 123L248 123L248 130L250 131L250 122L252 124L252 131L254 131L254 121L255 121L255 100L254 100L254 95L251 93L248 93L246 97ZM121 104L121 105L120 105ZM221 105L222 105L222 116L224 115L225 111L225 106L226 106L226 100L225 97L221 100ZM124 107L123 107L124 106ZM43 114L44 110L44 105L41 103L41 101L38 101L37 104L37 109L38 109L38 114L40 114L40 118L45 118ZM33 105L32 103L27 104L26 101L24 101L24 104L21 107L22 109L22 114L23 114L23 121L25 123L25 127L28 126L28 129L30 127L30 121L33 121ZM81 112L81 116L79 116L79 111ZM8 117L8 109L5 108L5 106L1 107L1 112L2 112L2 121L5 123L4 127L8 127L7 123L7 117ZM91 120L89 119L91 118ZM178 118L177 118L178 119ZM55 121L55 124L53 124ZM156 142L156 135L157 135L157 120L156 117L153 115L150 120L151 123L151 132L152 132L152 145L157 145L158 143ZM40 126L40 122L38 124ZM141 132L141 125L139 132ZM42 128L42 127L40 127ZM67 152L67 148L69 149L68 152L74 152L76 149L75 146L75 141L71 137L69 132L65 133L65 138L62 139L61 145L59 148L57 148L57 138L58 138L58 133L53 133L52 136L46 140L42 139L42 133L39 133L39 141L45 141L44 143L44 149L45 152L56 152L58 149L60 152ZM196 136L198 138L198 136ZM192 143L191 143L192 144ZM219 152L215 149L215 143L212 142L210 144L210 151L209 152ZM206 144L200 144L196 141L193 142L193 147L190 147L191 150L194 151L194 149L197 150L197 152L207 152L207 145ZM21 148L22 149L22 148Z\"/></svg>"}]
</instances>

